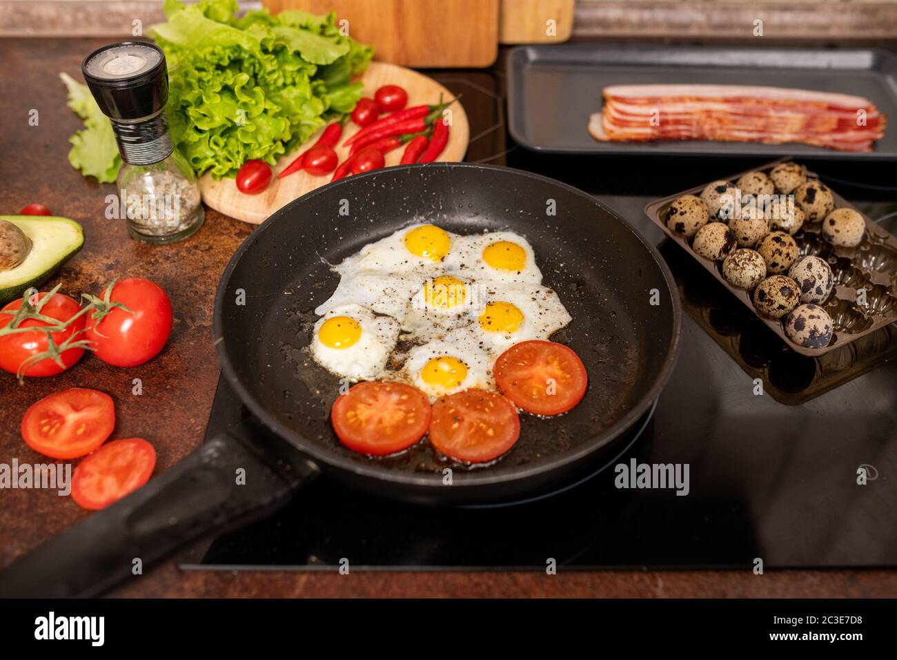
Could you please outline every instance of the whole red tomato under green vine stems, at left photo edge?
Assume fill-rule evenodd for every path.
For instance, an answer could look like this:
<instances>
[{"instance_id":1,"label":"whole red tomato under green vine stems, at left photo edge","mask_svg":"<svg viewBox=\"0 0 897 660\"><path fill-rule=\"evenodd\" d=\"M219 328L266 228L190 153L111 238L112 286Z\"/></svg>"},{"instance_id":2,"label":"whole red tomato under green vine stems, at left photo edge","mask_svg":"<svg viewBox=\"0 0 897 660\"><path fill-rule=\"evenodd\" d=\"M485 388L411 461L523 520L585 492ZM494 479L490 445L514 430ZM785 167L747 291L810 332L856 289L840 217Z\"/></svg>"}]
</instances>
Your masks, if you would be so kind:
<instances>
[{"instance_id":1,"label":"whole red tomato under green vine stems, at left photo edge","mask_svg":"<svg viewBox=\"0 0 897 660\"><path fill-rule=\"evenodd\" d=\"M34 303L43 301L47 298L48 293L37 295ZM22 298L13 300L7 304L4 312L10 312L22 308ZM76 313L81 310L81 305L77 304L72 298L65 294L53 295L40 308L40 313L57 321L68 321ZM4 328L13 321L13 314L0 313L0 328ZM39 321L38 319L26 319L19 324L20 328L41 328L53 323L47 321ZM84 329L84 317L81 316L65 329L51 332L50 337L56 343L57 347L61 347L66 339L72 338L80 330ZM80 337L80 336L79 336ZM79 337L74 337L73 341L78 341ZM37 356L47 351L49 342L47 340L47 332L44 330L32 330L30 332L15 332L13 334L0 337L0 368L11 374L19 372L22 363L31 356ZM52 357L44 357L37 362L30 362L27 368L22 370L24 376L52 376L61 374L70 366L74 365L84 354L84 349L80 347L67 348L59 356L62 366L52 359Z\"/></svg>"}]
</instances>

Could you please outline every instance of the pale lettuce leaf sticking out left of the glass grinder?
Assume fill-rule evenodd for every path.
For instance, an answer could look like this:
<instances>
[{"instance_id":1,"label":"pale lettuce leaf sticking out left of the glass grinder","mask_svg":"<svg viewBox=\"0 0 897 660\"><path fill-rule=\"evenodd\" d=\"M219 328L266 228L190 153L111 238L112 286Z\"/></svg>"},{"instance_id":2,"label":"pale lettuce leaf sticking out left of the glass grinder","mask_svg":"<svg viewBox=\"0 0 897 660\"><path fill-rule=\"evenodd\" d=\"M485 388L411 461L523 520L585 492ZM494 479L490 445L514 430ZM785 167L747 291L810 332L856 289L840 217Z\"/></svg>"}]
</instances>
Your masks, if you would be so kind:
<instances>
[{"instance_id":1,"label":"pale lettuce leaf sticking out left of the glass grinder","mask_svg":"<svg viewBox=\"0 0 897 660\"><path fill-rule=\"evenodd\" d=\"M84 128L69 138L72 148L68 162L85 177L93 176L103 183L115 181L121 156L109 118L100 112L86 84L78 83L71 75L59 77L68 87L68 107L84 120Z\"/></svg>"}]
</instances>

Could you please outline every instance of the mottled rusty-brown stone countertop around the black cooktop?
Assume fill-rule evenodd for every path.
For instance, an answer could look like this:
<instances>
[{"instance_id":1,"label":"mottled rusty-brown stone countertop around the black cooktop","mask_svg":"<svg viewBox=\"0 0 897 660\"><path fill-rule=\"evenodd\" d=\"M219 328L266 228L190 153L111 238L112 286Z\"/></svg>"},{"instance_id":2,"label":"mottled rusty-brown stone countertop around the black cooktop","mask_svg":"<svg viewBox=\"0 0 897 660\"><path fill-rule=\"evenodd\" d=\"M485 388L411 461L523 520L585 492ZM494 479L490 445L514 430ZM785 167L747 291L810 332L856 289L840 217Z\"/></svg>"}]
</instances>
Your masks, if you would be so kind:
<instances>
[{"instance_id":1,"label":"mottled rusty-brown stone countertop around the black cooktop","mask_svg":"<svg viewBox=\"0 0 897 660\"><path fill-rule=\"evenodd\" d=\"M58 73L80 79L84 54L105 40L0 40L7 72L0 95L0 209L16 213L39 202L83 224L83 251L44 288L100 293L113 277L148 277L168 291L175 324L168 346L146 365L119 369L84 356L64 374L30 379L19 386L0 377L0 462L45 462L19 435L22 414L36 400L69 387L91 387L115 400L115 437L142 436L158 453L156 473L165 471L202 442L218 366L212 342L213 295L223 268L252 231L214 211L190 239L155 247L128 238L125 224L104 216L112 185L85 180L65 158L68 136L80 120L65 107ZM39 54L39 57L35 57ZM31 126L31 110L39 121ZM140 378L143 394L132 394ZM55 491L0 491L0 567L88 514ZM541 573L287 571L184 572L174 561L118 592L126 596L893 596L894 571L750 571Z\"/></svg>"}]
</instances>

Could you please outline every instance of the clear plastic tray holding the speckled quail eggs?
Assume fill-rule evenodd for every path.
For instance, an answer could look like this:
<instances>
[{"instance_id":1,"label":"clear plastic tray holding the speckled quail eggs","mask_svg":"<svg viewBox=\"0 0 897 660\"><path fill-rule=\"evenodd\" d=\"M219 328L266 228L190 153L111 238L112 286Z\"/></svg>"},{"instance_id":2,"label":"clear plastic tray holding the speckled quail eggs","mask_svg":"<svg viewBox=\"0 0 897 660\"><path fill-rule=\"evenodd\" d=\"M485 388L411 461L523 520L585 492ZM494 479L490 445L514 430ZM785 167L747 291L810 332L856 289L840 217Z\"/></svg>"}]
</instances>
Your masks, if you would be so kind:
<instances>
[{"instance_id":1,"label":"clear plastic tray holding the speckled quail eggs","mask_svg":"<svg viewBox=\"0 0 897 660\"><path fill-rule=\"evenodd\" d=\"M769 173L773 167L779 163L786 163L788 160L790 159L781 159L753 168L748 172L759 170ZM730 180L735 183L745 173L739 172L730 177L722 177L721 180ZM806 171L806 175L808 179L817 178L813 172ZM701 190L709 183L710 181L676 195L651 202L645 207L645 214L671 240L679 243L694 260L710 271L732 295L749 307L758 319L779 335L788 348L805 356L823 356L897 321L897 238L860 212L860 215L866 220L867 231L863 242L856 248L836 247L826 242L823 239L821 223L805 222L800 231L795 234L794 239L801 255L815 255L828 261L829 266L832 267L835 286L832 288L832 294L823 302L822 306L832 317L834 327L832 340L828 346L823 348L805 348L789 339L785 333L784 318L769 319L757 312L751 299L753 292L730 285L722 276L721 261L717 262L701 257L692 250L688 239L667 228L666 218L669 215L670 204L683 195L700 196ZM832 196L835 208L849 207L859 211L834 190L832 190ZM866 304L861 304L863 301L862 296L859 295L860 289L865 289Z\"/></svg>"}]
</instances>

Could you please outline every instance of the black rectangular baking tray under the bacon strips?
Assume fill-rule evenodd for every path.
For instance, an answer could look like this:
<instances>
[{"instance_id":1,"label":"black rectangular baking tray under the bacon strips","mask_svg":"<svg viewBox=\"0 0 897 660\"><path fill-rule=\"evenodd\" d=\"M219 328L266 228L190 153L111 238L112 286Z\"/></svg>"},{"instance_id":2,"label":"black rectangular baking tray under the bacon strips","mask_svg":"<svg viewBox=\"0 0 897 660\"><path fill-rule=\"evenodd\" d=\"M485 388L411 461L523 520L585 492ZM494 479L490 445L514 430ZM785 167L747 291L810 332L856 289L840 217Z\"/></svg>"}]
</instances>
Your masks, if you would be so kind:
<instances>
[{"instance_id":1,"label":"black rectangular baking tray under the bacon strips","mask_svg":"<svg viewBox=\"0 0 897 660\"><path fill-rule=\"evenodd\" d=\"M875 151L856 154L790 143L681 140L598 142L588 117L610 84L756 84L864 96L891 127ZM897 57L872 48L717 48L565 44L518 46L508 57L511 136L551 154L780 156L897 161Z\"/></svg>"}]
</instances>

